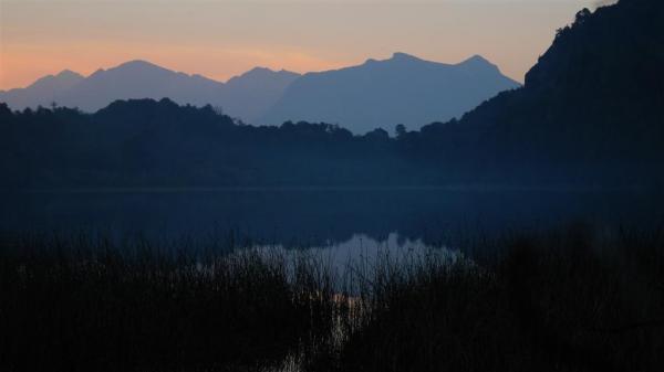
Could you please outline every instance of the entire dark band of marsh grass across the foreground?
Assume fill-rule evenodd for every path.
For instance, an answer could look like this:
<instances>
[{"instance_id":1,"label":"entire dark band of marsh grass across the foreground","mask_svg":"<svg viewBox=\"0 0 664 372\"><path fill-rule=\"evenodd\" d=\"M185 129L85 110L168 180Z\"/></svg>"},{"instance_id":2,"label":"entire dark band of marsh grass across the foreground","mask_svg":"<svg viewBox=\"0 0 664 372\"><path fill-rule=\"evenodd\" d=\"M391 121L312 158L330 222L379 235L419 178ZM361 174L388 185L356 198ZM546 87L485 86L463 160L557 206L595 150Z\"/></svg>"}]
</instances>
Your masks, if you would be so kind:
<instances>
[{"instance_id":1,"label":"entire dark band of marsh grass across the foreground","mask_svg":"<svg viewBox=\"0 0 664 372\"><path fill-rule=\"evenodd\" d=\"M4 238L3 371L661 371L664 230L353 263Z\"/></svg>"}]
</instances>

